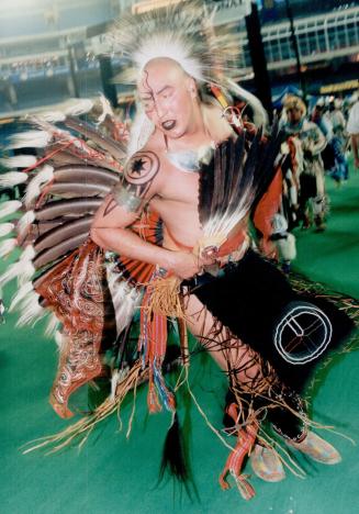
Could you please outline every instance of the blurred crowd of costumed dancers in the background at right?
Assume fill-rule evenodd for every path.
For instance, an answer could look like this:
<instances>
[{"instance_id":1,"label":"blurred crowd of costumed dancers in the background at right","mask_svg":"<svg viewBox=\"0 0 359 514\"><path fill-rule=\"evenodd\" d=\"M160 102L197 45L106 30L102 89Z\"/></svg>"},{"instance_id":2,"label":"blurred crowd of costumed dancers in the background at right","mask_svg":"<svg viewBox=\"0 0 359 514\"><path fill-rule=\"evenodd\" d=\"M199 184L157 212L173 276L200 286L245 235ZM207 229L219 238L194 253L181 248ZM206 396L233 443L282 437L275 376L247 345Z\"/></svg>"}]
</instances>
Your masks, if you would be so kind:
<instances>
[{"instance_id":1,"label":"blurred crowd of costumed dancers in the background at right","mask_svg":"<svg viewBox=\"0 0 359 514\"><path fill-rule=\"evenodd\" d=\"M274 214L268 212L271 233L261 231L260 236L265 253L277 254L289 271L296 255L293 228L326 228L329 198L325 177L338 187L347 182L351 152L355 168L359 167L358 94L321 97L312 109L299 96L288 94L278 115L284 132L279 208Z\"/></svg>"}]
</instances>

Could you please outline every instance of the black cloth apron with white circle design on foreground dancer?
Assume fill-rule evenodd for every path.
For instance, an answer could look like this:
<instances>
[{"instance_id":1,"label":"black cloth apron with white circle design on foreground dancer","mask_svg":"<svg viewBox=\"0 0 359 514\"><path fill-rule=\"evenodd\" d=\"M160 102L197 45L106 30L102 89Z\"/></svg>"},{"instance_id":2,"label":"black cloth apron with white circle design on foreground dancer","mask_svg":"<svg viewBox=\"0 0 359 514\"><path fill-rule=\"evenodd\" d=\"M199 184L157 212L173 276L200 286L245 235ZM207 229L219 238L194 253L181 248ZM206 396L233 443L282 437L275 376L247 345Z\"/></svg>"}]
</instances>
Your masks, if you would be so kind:
<instances>
[{"instance_id":1,"label":"black cloth apron with white circle design on foreground dancer","mask_svg":"<svg viewBox=\"0 0 359 514\"><path fill-rule=\"evenodd\" d=\"M299 402L298 393L303 391L313 368L352 328L349 317L334 304L314 295L296 293L276 266L251 249L239 261L222 268L220 276L203 273L184 281L183 286L198 297L217 321L270 362L284 389L291 391L289 396L292 400L285 400L292 403L292 407ZM298 309L299 316L292 314ZM321 319L317 323L316 317L311 317L312 312L323 316L323 326ZM279 337L281 326L284 328ZM325 336L327 343L323 344ZM280 338L284 350L280 345L279 349L276 346L276 340L278 343ZM316 350L321 344L322 350ZM312 354L311 357L306 357L306 349L308 355ZM294 427L298 423L292 417L292 427L279 427L291 438L298 436L300 429ZM284 424L288 425L288 420Z\"/></svg>"}]
</instances>

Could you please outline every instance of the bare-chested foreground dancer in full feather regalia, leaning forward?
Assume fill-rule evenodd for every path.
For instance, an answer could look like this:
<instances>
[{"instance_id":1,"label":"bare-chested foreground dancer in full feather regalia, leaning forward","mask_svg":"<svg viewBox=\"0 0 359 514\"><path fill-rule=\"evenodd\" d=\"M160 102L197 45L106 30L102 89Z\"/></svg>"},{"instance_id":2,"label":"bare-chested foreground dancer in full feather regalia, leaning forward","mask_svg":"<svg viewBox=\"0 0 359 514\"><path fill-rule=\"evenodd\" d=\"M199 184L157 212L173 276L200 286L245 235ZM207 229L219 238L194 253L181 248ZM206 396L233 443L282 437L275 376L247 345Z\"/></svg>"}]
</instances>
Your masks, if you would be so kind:
<instances>
[{"instance_id":1,"label":"bare-chested foreground dancer in full feather regalia, leaning forward","mask_svg":"<svg viewBox=\"0 0 359 514\"><path fill-rule=\"evenodd\" d=\"M176 399L165 382L162 364L167 319L177 317L186 375L187 328L228 373L226 414L232 423L226 418L226 425L237 440L221 484L228 487L225 478L231 472L249 499L254 490L242 474L242 463L251 450L258 476L270 481L284 477L281 460L261 431L266 417L292 447L324 463L339 461L339 454L308 429L300 392L321 358L348 335L351 323L332 303L294 292L250 247L247 219L276 172L281 139L276 130L266 137L260 128L249 130L228 109L229 92L251 103L257 121L266 119L258 101L225 78L223 45L215 45L207 24L199 34L201 19L202 12L170 11L165 20L123 20L115 42L132 60L139 98L126 149L72 118L65 116L65 126L86 135L91 145L47 121L36 121L47 134L41 136L43 146L52 143L41 160L56 169L47 164L43 175L35 175L26 199L29 205L35 201L35 209L26 213L20 232L22 236L30 228L43 232L25 247L27 258L2 282L20 272L41 271L14 303L32 286L63 324L51 399L63 417L71 415L67 402L72 391L103 372L101 353L116 328L112 394L55 440L86 433L146 378L149 410L164 405L172 412L173 435ZM205 85L214 92L212 102L203 101ZM102 152L94 150L93 143ZM90 160L91 166L78 165L79 176L74 165L58 168L58 163L75 158ZM86 195L82 202L54 200L79 191ZM51 201L44 203L47 197ZM65 213L72 220L64 223ZM74 221L78 213L81 217ZM58 225L48 231L33 223L41 220ZM128 370L124 355L139 304L138 353ZM178 455L170 455L177 454L170 442L173 437L167 438L165 463L168 459L183 479L184 468Z\"/></svg>"}]
</instances>

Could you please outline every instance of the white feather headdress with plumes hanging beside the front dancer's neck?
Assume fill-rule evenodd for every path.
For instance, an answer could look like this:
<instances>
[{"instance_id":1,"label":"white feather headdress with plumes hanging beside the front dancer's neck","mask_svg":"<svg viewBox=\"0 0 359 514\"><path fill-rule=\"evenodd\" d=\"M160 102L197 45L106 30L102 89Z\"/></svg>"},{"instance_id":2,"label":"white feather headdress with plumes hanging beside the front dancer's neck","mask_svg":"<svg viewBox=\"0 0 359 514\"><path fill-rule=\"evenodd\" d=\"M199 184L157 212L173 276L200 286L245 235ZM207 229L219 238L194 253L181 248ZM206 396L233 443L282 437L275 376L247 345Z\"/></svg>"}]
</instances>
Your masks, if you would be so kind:
<instances>
[{"instance_id":1,"label":"white feather headdress with plumes hanging beside the front dancer's neck","mask_svg":"<svg viewBox=\"0 0 359 514\"><path fill-rule=\"evenodd\" d=\"M199 85L216 83L239 96L254 110L256 125L266 125L267 114L256 97L231 80L237 72L239 41L228 26L214 30L215 9L209 13L201 1L170 4L143 15L126 14L109 34L113 52L123 58L123 71L114 81L137 83L146 64L168 57ZM144 146L154 125L138 109L128 144L128 154Z\"/></svg>"}]
</instances>

